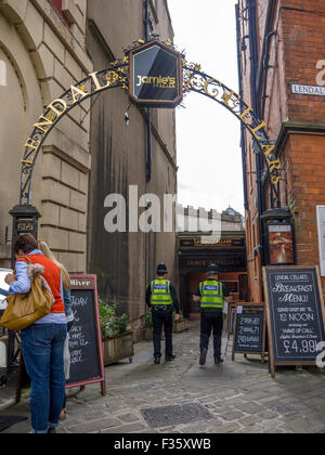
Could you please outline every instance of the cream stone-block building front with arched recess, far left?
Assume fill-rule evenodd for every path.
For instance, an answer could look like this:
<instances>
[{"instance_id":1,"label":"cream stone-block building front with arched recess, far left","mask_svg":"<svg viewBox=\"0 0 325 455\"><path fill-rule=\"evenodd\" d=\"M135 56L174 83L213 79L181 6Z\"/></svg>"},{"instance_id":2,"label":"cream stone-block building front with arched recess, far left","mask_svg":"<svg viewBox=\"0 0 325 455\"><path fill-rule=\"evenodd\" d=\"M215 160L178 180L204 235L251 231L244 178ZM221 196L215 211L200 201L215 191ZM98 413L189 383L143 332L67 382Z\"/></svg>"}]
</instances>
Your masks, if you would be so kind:
<instances>
[{"instance_id":1,"label":"cream stone-block building front with arched recess, far left","mask_svg":"<svg viewBox=\"0 0 325 455\"><path fill-rule=\"evenodd\" d=\"M1 0L0 22L0 263L9 266L9 210L18 203L24 144L46 106L93 64L86 50L87 0ZM41 214L39 238L74 273L87 268L89 107L89 102L75 107L51 132L31 188L31 204Z\"/></svg>"}]
</instances>

